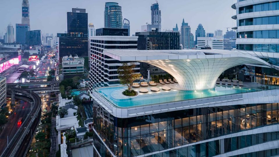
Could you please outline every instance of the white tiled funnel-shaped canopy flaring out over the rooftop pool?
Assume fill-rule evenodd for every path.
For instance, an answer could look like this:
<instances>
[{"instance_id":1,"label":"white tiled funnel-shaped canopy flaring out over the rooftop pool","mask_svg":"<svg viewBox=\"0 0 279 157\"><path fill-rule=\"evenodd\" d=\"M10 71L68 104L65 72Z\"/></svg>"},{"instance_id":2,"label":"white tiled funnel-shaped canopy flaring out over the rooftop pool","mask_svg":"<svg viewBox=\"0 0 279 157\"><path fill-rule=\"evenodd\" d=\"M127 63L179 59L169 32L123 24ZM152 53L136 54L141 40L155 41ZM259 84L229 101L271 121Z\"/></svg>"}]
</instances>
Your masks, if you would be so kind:
<instances>
[{"instance_id":1,"label":"white tiled funnel-shaped canopy flaring out over the rooftop pool","mask_svg":"<svg viewBox=\"0 0 279 157\"><path fill-rule=\"evenodd\" d=\"M159 67L176 78L184 90L214 88L225 70L243 64L268 66L263 57L278 58L279 53L230 50L106 50L103 53L119 61L145 62Z\"/></svg>"}]
</instances>

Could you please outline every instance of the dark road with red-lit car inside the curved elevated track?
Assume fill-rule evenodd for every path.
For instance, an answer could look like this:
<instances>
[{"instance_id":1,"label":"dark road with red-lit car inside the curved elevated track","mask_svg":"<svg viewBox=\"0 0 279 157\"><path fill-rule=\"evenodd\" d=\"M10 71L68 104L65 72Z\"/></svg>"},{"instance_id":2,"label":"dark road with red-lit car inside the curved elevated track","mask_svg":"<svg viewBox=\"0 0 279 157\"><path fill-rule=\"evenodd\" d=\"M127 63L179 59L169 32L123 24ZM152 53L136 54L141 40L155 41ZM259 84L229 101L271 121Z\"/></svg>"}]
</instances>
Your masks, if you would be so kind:
<instances>
[{"instance_id":1,"label":"dark road with red-lit car inside the curved elevated track","mask_svg":"<svg viewBox=\"0 0 279 157\"><path fill-rule=\"evenodd\" d=\"M17 125L19 118L22 117L22 123L23 123L30 110L31 110L30 105L24 101L20 101L20 104L15 106L15 111L14 111L15 114L12 114L8 118L8 123L5 125L5 128L0 134L0 154L2 154L2 151L7 146L7 136L9 137L9 142L10 142L10 140L12 140L17 130L20 128L21 125Z\"/></svg>"}]
</instances>

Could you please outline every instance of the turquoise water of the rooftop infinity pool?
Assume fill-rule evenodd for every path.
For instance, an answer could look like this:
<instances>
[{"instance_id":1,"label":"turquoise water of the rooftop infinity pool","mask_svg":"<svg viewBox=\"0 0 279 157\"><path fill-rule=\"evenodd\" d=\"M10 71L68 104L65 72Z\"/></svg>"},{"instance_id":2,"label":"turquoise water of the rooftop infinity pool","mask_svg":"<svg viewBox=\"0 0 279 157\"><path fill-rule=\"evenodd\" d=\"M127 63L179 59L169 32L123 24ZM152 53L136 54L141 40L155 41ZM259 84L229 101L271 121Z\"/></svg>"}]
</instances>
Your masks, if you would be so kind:
<instances>
[{"instance_id":1,"label":"turquoise water of the rooftop infinity pool","mask_svg":"<svg viewBox=\"0 0 279 157\"><path fill-rule=\"evenodd\" d=\"M238 94L257 91L257 88L244 88L237 86L233 87L226 85L216 85L215 88L210 90L197 91L174 89L164 91L162 90L162 86L157 86L157 88L160 88L159 92L152 92L150 90L151 87L149 86L146 87L146 89L149 90L148 93L140 93L140 88L133 88L133 90L138 92L138 95L135 97L129 97L122 94L122 92L127 89L126 86L96 88L95 91L101 97L109 101L111 104L120 108L129 108L142 105L151 105L173 101L183 101L189 99L216 97L228 94Z\"/></svg>"}]
</instances>

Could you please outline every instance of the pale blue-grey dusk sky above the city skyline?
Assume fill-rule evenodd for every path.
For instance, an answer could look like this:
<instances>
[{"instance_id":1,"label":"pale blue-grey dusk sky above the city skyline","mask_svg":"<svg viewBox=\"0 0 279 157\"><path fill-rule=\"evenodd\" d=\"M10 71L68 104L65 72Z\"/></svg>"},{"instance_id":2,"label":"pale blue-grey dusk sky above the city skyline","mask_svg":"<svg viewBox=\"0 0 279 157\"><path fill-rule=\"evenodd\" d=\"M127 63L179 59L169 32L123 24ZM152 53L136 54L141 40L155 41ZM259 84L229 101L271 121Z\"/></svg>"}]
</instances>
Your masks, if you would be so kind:
<instances>
[{"instance_id":1,"label":"pale blue-grey dusk sky above the city skyline","mask_svg":"<svg viewBox=\"0 0 279 157\"><path fill-rule=\"evenodd\" d=\"M123 19L130 20L130 34L141 31L141 25L151 23L150 6L155 0L110 0L122 7ZM42 33L64 33L67 30L67 12L71 8L85 8L88 13L88 23L95 28L104 26L104 7L108 0L29 0L31 30L42 30ZM202 24L205 32L216 29L226 31L226 27L236 26L236 20L231 19L236 11L231 5L236 0L158 0L162 12L162 31L171 29L178 24L180 29L182 19L191 26L195 35L198 24ZM0 33L6 33L9 23L15 28L21 23L22 0L0 0Z\"/></svg>"}]
</instances>

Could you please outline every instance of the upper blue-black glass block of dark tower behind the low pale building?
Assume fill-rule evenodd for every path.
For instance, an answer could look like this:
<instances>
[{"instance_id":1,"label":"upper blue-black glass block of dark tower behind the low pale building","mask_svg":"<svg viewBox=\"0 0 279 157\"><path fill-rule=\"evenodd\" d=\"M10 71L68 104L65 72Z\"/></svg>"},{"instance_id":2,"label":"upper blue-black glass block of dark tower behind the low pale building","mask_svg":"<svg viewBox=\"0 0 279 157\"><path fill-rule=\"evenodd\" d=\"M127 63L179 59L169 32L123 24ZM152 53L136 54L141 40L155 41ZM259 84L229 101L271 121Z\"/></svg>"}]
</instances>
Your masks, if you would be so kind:
<instances>
[{"instance_id":1,"label":"upper blue-black glass block of dark tower behind the low pale building","mask_svg":"<svg viewBox=\"0 0 279 157\"><path fill-rule=\"evenodd\" d=\"M85 9L72 8L72 12L67 12L67 31L76 34L77 37L87 37L88 15Z\"/></svg>"}]
</instances>

